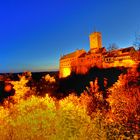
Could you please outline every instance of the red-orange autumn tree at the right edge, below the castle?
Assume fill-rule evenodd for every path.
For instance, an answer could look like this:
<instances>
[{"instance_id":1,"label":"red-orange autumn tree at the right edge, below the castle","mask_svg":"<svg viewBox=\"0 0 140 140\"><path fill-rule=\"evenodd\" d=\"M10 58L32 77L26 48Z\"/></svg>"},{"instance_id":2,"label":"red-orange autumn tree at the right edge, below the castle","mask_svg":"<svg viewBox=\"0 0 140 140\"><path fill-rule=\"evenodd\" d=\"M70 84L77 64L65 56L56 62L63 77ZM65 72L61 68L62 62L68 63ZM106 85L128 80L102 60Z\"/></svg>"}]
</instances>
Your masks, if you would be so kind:
<instances>
[{"instance_id":1,"label":"red-orange autumn tree at the right edge, below the castle","mask_svg":"<svg viewBox=\"0 0 140 140\"><path fill-rule=\"evenodd\" d=\"M111 110L109 120L115 122L128 122L131 116L140 117L140 87L139 74L135 68L128 70L125 75L120 75L119 80L108 89Z\"/></svg>"}]
</instances>

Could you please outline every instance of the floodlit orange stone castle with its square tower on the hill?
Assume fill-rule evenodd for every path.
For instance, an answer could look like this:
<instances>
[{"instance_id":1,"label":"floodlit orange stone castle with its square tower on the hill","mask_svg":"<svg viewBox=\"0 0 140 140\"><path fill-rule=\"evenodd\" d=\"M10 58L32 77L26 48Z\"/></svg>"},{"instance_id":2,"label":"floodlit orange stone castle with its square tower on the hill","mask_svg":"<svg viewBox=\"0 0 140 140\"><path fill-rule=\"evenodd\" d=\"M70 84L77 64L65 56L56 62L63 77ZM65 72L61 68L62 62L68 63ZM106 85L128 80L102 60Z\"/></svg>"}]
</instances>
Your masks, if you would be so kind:
<instances>
[{"instance_id":1,"label":"floodlit orange stone castle with its square tower on the hill","mask_svg":"<svg viewBox=\"0 0 140 140\"><path fill-rule=\"evenodd\" d=\"M116 66L131 67L136 63L136 50L134 47L106 51L102 47L102 36L100 32L89 35L90 50L76 50L60 57L59 77L64 78L75 72L85 74L91 67L108 68Z\"/></svg>"}]
</instances>

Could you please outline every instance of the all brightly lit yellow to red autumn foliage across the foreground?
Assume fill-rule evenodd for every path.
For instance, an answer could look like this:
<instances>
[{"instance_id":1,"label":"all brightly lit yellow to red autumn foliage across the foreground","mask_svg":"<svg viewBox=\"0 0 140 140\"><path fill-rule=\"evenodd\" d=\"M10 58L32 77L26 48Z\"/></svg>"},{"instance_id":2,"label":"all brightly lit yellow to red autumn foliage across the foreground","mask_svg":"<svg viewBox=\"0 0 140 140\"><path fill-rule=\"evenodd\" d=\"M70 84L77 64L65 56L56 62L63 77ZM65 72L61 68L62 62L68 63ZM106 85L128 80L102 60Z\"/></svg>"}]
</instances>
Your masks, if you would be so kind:
<instances>
[{"instance_id":1,"label":"all brightly lit yellow to red autumn foliage across the foreground","mask_svg":"<svg viewBox=\"0 0 140 140\"><path fill-rule=\"evenodd\" d=\"M31 75L12 81L15 94L0 106L0 139L112 140L140 137L140 76L136 68L121 74L105 91L98 78L80 96L63 99L38 96L27 85ZM55 79L47 75L46 82ZM49 84L49 83L48 83ZM104 86L107 81L104 79ZM104 92L108 96L104 97Z\"/></svg>"}]
</instances>

